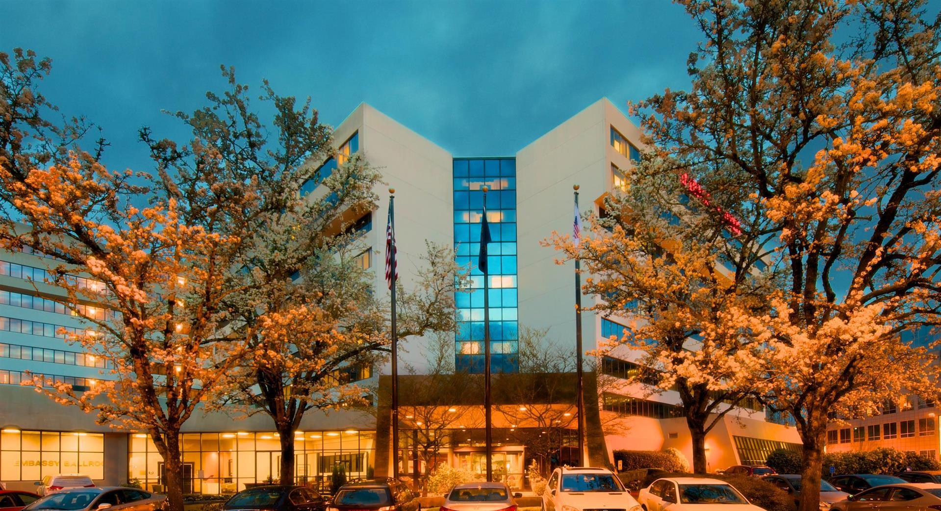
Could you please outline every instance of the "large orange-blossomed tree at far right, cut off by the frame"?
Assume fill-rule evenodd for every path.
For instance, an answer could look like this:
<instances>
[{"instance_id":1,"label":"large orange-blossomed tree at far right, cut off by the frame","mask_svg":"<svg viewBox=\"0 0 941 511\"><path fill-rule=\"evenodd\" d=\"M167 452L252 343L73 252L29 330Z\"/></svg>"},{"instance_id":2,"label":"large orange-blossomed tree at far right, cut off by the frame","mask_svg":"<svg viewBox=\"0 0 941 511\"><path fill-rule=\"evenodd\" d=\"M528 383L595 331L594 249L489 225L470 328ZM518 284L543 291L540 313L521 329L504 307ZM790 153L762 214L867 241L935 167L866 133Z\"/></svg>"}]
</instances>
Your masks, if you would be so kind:
<instances>
[{"instance_id":1,"label":"large orange-blossomed tree at far right, cut off by the frame","mask_svg":"<svg viewBox=\"0 0 941 511\"><path fill-rule=\"evenodd\" d=\"M907 339L938 323L941 19L918 0L686 8L705 39L692 88L638 111L674 179L774 235L766 307L726 315L766 346L766 398L797 424L810 511L829 412L937 392L933 357Z\"/></svg>"}]
</instances>

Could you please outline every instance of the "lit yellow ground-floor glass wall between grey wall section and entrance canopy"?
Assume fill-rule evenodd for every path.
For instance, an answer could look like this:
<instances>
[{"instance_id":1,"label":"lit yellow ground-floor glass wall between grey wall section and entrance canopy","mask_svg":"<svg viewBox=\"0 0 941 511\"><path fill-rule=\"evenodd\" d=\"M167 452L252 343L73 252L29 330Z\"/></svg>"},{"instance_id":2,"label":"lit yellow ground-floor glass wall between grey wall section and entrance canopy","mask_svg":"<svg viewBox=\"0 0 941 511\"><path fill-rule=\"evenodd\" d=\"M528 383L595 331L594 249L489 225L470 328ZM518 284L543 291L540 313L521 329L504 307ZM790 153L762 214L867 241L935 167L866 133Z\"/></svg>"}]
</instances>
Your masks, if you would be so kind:
<instances>
[{"instance_id":1,"label":"lit yellow ground-floor glass wall between grey wall section and entrance canopy","mask_svg":"<svg viewBox=\"0 0 941 511\"><path fill-rule=\"evenodd\" d=\"M129 436L128 477L151 491L162 491L163 459L148 435ZM279 481L277 433L184 433L184 492L226 494ZM334 468L348 479L366 478L375 468L375 431L304 431L295 436L295 481L329 487Z\"/></svg>"}]
</instances>

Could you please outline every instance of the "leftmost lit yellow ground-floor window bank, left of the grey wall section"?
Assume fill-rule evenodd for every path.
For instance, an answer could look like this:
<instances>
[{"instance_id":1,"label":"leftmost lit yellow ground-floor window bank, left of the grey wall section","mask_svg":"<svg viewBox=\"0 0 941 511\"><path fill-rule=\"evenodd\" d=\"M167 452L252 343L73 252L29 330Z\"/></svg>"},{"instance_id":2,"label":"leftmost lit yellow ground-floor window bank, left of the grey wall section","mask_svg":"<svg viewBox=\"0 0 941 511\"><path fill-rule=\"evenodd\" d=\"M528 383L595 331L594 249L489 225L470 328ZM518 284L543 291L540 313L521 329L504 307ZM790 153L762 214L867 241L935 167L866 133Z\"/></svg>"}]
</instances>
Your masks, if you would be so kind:
<instances>
[{"instance_id":1,"label":"leftmost lit yellow ground-floor window bank, left of the grey wall section","mask_svg":"<svg viewBox=\"0 0 941 511\"><path fill-rule=\"evenodd\" d=\"M39 481L82 473L104 479L104 435L57 431L0 431L0 480Z\"/></svg>"}]
</instances>

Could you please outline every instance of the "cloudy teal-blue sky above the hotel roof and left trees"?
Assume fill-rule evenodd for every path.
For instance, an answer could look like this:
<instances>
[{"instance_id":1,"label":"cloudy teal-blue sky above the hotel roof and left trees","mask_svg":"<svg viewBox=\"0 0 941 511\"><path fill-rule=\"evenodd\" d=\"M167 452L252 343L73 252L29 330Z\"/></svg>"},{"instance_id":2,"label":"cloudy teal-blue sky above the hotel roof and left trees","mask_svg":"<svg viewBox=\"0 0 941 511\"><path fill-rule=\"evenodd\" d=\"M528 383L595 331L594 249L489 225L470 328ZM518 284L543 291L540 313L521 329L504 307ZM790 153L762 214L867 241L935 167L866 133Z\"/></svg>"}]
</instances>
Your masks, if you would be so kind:
<instances>
[{"instance_id":1,"label":"cloudy teal-blue sky above the hotel roof and left trees","mask_svg":"<svg viewBox=\"0 0 941 511\"><path fill-rule=\"evenodd\" d=\"M184 139L161 109L191 111L224 82L311 96L339 124L360 102L455 156L511 155L606 96L622 109L686 88L699 40L660 1L0 3L0 50L53 58L46 96L112 143L111 168L147 169L136 131Z\"/></svg>"}]
</instances>

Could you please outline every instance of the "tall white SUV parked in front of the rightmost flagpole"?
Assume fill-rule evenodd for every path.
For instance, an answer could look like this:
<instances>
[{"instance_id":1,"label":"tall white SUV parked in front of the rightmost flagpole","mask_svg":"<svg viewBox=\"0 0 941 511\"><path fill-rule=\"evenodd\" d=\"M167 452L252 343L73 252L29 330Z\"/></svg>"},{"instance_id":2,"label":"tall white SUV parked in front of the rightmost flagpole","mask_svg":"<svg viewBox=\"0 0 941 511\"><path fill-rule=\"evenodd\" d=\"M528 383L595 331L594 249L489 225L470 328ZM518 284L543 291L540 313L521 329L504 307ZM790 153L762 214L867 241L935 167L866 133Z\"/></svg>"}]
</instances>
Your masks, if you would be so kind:
<instances>
[{"instance_id":1,"label":"tall white SUV parked in front of the rightmost flagpole","mask_svg":"<svg viewBox=\"0 0 941 511\"><path fill-rule=\"evenodd\" d=\"M591 467L555 469L542 494L542 511L641 511L613 471Z\"/></svg>"}]
</instances>

